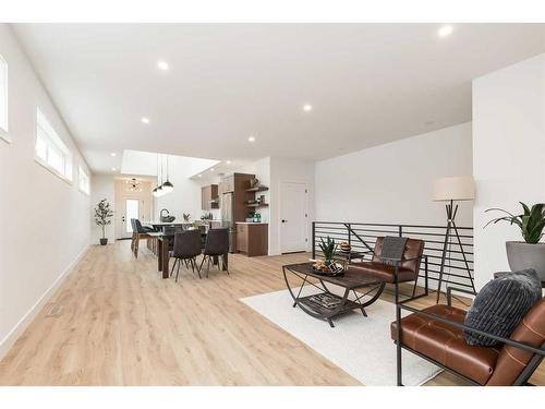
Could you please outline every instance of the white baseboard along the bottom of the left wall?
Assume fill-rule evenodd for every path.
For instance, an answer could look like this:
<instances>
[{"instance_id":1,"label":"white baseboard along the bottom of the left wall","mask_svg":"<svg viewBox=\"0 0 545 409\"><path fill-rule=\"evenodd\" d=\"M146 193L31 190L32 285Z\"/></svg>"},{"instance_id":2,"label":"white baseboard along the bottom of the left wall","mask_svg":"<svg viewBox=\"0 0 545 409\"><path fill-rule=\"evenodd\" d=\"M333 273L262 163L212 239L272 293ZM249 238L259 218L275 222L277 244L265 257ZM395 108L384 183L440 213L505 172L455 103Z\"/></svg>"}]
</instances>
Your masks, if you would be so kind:
<instances>
[{"instance_id":1,"label":"white baseboard along the bottom of the left wall","mask_svg":"<svg viewBox=\"0 0 545 409\"><path fill-rule=\"evenodd\" d=\"M58 288L61 286L64 278L72 273L75 265L83 258L88 250L88 245L70 263L70 265L61 273L53 284L41 294L36 303L26 312L25 315L15 324L15 326L8 333L8 335L0 341L0 360L13 347L19 337L24 333L26 327L32 323L34 317L41 311L45 304L51 299Z\"/></svg>"}]
</instances>

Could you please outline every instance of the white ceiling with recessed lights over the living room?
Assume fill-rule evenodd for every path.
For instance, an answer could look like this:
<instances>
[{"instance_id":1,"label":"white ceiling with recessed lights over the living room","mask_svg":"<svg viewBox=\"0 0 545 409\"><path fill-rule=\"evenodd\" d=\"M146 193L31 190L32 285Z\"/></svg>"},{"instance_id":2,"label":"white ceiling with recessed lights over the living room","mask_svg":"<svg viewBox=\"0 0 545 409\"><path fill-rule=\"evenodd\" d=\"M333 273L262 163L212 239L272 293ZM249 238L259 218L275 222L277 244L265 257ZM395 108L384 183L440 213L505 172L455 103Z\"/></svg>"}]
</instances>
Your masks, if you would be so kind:
<instances>
[{"instance_id":1,"label":"white ceiling with recessed lights over the living room","mask_svg":"<svg viewBox=\"0 0 545 409\"><path fill-rule=\"evenodd\" d=\"M439 27L15 24L14 31L92 169L110 171L120 168L123 149L322 159L433 131L471 119L472 79L545 51L544 24L455 24L445 38ZM157 69L161 59L168 72ZM307 103L311 112L302 110Z\"/></svg>"}]
</instances>

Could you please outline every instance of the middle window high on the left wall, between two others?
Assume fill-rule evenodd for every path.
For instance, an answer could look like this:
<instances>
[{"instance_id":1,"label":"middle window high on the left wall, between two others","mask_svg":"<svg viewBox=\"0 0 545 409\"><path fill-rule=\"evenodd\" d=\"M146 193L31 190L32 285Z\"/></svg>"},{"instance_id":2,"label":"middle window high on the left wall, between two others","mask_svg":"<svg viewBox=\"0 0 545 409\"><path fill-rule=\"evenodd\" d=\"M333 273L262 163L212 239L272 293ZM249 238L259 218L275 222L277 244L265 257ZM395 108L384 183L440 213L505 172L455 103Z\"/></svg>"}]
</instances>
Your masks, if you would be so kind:
<instances>
[{"instance_id":1,"label":"middle window high on the left wall, between two others","mask_svg":"<svg viewBox=\"0 0 545 409\"><path fill-rule=\"evenodd\" d=\"M36 160L57 176L72 180L72 154L39 109L36 110Z\"/></svg>"}]
</instances>

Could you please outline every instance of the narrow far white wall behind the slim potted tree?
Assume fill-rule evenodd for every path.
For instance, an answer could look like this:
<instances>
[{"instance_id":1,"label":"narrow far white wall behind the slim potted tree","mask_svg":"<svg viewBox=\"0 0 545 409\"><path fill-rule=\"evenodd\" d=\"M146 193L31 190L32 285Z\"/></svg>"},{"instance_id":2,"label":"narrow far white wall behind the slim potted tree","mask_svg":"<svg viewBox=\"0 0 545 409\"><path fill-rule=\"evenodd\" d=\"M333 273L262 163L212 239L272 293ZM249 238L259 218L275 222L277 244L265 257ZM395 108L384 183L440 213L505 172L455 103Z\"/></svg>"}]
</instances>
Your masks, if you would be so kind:
<instances>
[{"instance_id":1,"label":"narrow far white wall behind the slim potted tree","mask_svg":"<svg viewBox=\"0 0 545 409\"><path fill-rule=\"evenodd\" d=\"M116 242L116 184L113 177L111 175L94 175L90 183L90 243L97 244L99 239L102 237L102 229L99 228L95 222L95 212L94 207L102 199L110 202L110 208L113 210L113 217L111 218L111 225L106 226L106 237L108 239L108 244L113 244Z\"/></svg>"}]
</instances>

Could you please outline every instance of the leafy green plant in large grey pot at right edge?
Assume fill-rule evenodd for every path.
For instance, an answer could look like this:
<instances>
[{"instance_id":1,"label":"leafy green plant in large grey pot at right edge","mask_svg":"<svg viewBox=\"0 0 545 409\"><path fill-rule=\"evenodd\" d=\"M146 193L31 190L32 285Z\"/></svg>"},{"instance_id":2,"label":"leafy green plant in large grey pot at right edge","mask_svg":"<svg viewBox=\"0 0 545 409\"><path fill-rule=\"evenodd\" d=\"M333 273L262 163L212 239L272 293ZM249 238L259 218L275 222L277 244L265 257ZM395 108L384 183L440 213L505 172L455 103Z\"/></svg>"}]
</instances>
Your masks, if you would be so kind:
<instances>
[{"instance_id":1,"label":"leafy green plant in large grey pot at right edge","mask_svg":"<svg viewBox=\"0 0 545 409\"><path fill-rule=\"evenodd\" d=\"M498 221L509 221L510 225L517 225L524 241L506 242L509 266L513 272L534 268L541 280L545 281L545 243L540 242L545 228L545 203L537 203L532 207L522 202L520 204L523 209L521 215L512 215L501 208L486 209L485 212L501 212L505 216L492 219L485 227L491 222L496 224Z\"/></svg>"}]
</instances>

